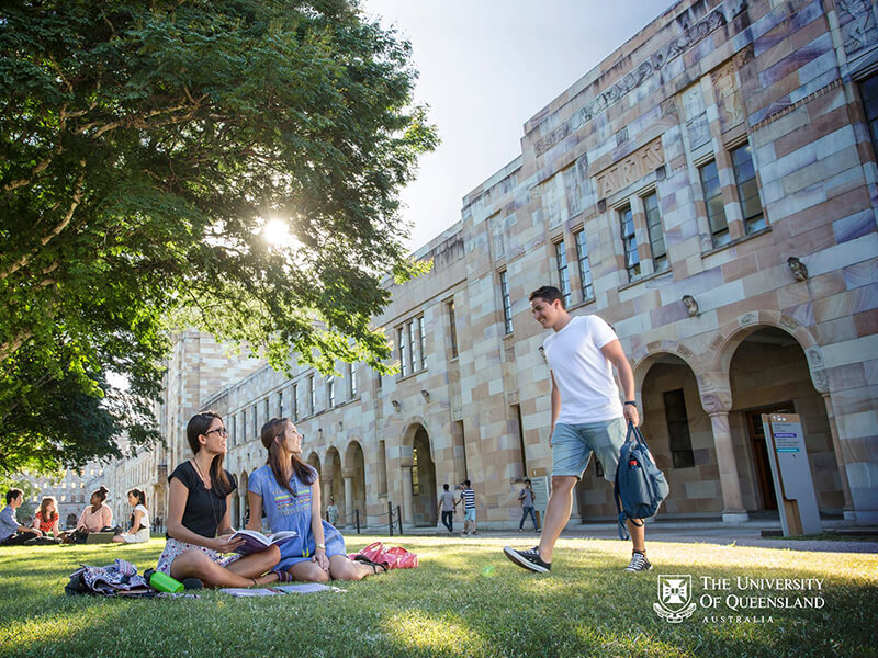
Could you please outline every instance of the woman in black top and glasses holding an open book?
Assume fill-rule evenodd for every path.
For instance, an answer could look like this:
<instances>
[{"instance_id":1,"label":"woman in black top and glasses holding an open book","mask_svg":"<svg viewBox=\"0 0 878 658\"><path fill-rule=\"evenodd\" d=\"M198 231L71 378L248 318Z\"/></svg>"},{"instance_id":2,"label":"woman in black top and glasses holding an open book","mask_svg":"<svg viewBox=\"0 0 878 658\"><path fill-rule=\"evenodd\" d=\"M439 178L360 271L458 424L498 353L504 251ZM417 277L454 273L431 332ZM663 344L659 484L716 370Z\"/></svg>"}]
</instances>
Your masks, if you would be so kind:
<instances>
[{"instance_id":1,"label":"woman in black top and glasses holding an open book","mask_svg":"<svg viewBox=\"0 0 878 658\"><path fill-rule=\"evenodd\" d=\"M206 587L249 587L277 580L277 574L267 574L280 559L277 546L246 557L223 556L244 541L230 538L228 508L237 484L223 468L228 436L223 419L212 411L198 413L185 432L194 457L168 477L168 541L158 570L177 580L200 578Z\"/></svg>"}]
</instances>

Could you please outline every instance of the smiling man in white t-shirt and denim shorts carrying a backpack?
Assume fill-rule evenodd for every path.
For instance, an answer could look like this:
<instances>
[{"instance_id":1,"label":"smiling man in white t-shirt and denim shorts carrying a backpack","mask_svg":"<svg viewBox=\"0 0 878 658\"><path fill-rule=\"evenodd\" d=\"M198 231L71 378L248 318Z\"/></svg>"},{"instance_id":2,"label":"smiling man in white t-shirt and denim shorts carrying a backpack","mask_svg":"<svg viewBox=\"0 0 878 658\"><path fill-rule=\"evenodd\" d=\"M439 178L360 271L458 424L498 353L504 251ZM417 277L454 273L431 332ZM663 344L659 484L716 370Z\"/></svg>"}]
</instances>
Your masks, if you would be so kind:
<instances>
[{"instance_id":1,"label":"smiling man in white t-shirt and denim shorts carrying a backpack","mask_svg":"<svg viewBox=\"0 0 878 658\"><path fill-rule=\"evenodd\" d=\"M634 401L634 375L616 332L601 318L571 316L564 296L554 286L542 286L530 294L533 317L553 333L543 341L552 377L552 491L545 508L539 545L529 551L504 548L518 566L545 574L552 568L552 552L570 520L573 487L582 478L592 453L604 466L604 477L612 483L624 443L626 421L640 423ZM619 373L624 404L612 377ZM642 523L628 522L633 543L626 571L648 571Z\"/></svg>"}]
</instances>

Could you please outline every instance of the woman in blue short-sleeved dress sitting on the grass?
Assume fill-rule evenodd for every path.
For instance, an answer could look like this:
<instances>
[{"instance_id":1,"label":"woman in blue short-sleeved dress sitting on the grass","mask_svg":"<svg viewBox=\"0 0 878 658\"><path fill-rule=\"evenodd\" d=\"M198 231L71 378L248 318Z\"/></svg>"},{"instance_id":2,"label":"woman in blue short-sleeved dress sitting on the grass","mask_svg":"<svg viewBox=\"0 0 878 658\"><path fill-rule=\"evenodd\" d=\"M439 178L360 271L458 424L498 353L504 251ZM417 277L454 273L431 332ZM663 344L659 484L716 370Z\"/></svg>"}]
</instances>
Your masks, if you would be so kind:
<instances>
[{"instance_id":1,"label":"woman in blue short-sleeved dress sitting on the grass","mask_svg":"<svg viewBox=\"0 0 878 658\"><path fill-rule=\"evenodd\" d=\"M341 533L320 519L320 483L317 472L302 458L302 434L289 419L273 418L262 426L267 464L249 479L249 530L260 531L262 504L271 532L294 530L299 536L280 544L275 567L282 580L308 582L360 580L384 571L374 563L351 561Z\"/></svg>"}]
</instances>

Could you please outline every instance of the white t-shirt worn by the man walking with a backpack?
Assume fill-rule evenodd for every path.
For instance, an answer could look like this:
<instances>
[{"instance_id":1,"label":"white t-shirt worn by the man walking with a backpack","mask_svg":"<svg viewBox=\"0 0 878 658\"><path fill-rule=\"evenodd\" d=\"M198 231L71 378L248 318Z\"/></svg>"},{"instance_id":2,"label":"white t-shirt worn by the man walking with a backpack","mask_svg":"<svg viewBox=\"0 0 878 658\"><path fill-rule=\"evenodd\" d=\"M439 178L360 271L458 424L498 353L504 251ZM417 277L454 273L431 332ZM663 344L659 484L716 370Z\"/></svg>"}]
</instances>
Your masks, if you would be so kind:
<instances>
[{"instance_id":1,"label":"white t-shirt worn by the man walking with a backpack","mask_svg":"<svg viewBox=\"0 0 878 658\"><path fill-rule=\"evenodd\" d=\"M600 348L618 337L597 316L575 316L542 343L561 392L558 422L597 422L622 416L612 364Z\"/></svg>"}]
</instances>

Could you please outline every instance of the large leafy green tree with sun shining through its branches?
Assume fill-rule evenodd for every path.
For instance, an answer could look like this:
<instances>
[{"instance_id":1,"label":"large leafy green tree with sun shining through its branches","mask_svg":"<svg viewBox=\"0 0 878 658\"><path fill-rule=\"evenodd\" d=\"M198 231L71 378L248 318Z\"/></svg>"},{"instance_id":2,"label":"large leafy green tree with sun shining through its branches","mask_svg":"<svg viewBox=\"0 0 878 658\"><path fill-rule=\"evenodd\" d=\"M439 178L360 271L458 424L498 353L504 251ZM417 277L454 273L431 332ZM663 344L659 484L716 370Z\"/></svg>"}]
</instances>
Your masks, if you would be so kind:
<instances>
[{"instance_id":1,"label":"large leafy green tree with sun shining through its branches","mask_svg":"<svg viewBox=\"0 0 878 658\"><path fill-rule=\"evenodd\" d=\"M398 190L436 144L409 55L345 0L2 4L0 468L155 439L169 318L384 367L381 281L419 270Z\"/></svg>"}]
</instances>

